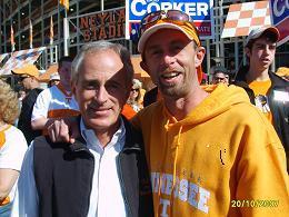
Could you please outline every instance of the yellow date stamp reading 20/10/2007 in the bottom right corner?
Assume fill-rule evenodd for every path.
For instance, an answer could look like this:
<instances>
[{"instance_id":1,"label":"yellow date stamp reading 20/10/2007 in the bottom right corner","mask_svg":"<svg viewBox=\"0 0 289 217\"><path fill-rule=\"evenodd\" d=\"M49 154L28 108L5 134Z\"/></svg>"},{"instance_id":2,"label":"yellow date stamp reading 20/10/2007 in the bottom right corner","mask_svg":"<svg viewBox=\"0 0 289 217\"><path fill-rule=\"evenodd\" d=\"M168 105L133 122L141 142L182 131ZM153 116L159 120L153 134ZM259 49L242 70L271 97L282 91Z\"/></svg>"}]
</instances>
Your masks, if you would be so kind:
<instances>
[{"instance_id":1,"label":"yellow date stamp reading 20/10/2007 in the bottom right corner","mask_svg":"<svg viewBox=\"0 0 289 217\"><path fill-rule=\"evenodd\" d=\"M235 208L270 208L270 207L278 207L279 200L269 200L269 199L233 199L231 200L231 207Z\"/></svg>"}]
</instances>

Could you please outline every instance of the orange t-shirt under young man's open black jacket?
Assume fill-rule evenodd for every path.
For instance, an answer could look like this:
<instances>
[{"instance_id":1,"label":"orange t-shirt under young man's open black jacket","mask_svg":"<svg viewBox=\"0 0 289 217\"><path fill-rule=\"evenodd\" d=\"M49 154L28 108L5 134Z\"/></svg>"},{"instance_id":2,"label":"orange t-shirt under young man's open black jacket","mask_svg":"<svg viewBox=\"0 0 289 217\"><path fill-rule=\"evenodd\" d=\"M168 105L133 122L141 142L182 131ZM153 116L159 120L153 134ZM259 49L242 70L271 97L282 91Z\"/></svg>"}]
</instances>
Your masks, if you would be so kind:
<instances>
[{"instance_id":1,"label":"orange t-shirt under young man's open black jacket","mask_svg":"<svg viewBox=\"0 0 289 217\"><path fill-rule=\"evenodd\" d=\"M249 83L249 87L253 90L255 93L255 105L259 108L262 114L268 118L272 124L272 112L268 102L268 90L271 87L271 80L266 81L252 81Z\"/></svg>"}]
</instances>

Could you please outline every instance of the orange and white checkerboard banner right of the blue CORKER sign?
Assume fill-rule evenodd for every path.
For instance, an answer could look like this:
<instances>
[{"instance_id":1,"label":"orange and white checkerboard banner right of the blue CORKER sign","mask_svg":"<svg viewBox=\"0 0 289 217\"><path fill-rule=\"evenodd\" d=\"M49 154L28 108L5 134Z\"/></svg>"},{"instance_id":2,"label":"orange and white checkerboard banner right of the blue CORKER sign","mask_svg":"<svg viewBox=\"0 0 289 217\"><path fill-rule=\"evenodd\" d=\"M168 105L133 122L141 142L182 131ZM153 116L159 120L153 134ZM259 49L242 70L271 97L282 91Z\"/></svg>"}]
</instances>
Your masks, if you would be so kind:
<instances>
[{"instance_id":1,"label":"orange and white checkerboard banner right of the blue CORKER sign","mask_svg":"<svg viewBox=\"0 0 289 217\"><path fill-rule=\"evenodd\" d=\"M221 38L248 36L252 29L271 26L269 1L231 4Z\"/></svg>"}]
</instances>

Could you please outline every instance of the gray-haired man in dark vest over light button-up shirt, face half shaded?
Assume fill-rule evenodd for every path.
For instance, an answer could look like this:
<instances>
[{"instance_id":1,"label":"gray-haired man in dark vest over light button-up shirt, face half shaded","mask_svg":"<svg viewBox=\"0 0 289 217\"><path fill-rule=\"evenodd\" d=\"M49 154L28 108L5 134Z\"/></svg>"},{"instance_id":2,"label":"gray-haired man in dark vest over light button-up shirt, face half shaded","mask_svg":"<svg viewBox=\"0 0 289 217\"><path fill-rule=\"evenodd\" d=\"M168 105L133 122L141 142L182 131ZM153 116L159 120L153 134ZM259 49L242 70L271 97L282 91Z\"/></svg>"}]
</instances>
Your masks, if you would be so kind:
<instances>
[{"instance_id":1,"label":"gray-haired man in dark vest over light button-up shirt, face half shaded","mask_svg":"<svg viewBox=\"0 0 289 217\"><path fill-rule=\"evenodd\" d=\"M12 216L152 216L142 139L120 116L133 76L120 45L83 46L72 63L81 136L74 144L37 138L19 178Z\"/></svg>"}]
</instances>

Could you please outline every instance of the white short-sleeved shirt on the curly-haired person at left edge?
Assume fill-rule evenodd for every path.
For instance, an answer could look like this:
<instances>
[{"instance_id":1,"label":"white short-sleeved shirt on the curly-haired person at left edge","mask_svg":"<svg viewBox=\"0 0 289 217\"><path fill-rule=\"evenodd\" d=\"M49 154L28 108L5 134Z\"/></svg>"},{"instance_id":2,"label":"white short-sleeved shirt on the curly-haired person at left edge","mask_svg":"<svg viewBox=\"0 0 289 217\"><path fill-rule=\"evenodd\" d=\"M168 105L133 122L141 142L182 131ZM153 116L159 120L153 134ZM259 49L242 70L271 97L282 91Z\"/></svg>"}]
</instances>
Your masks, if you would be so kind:
<instances>
[{"instance_id":1,"label":"white short-sleeved shirt on the curly-haired person at left edge","mask_svg":"<svg viewBox=\"0 0 289 217\"><path fill-rule=\"evenodd\" d=\"M2 146L0 145L0 168L20 171L27 150L26 138L23 134L13 126L10 126L3 132L6 142ZM16 186L17 181L8 195L10 201L14 198Z\"/></svg>"}]
</instances>

